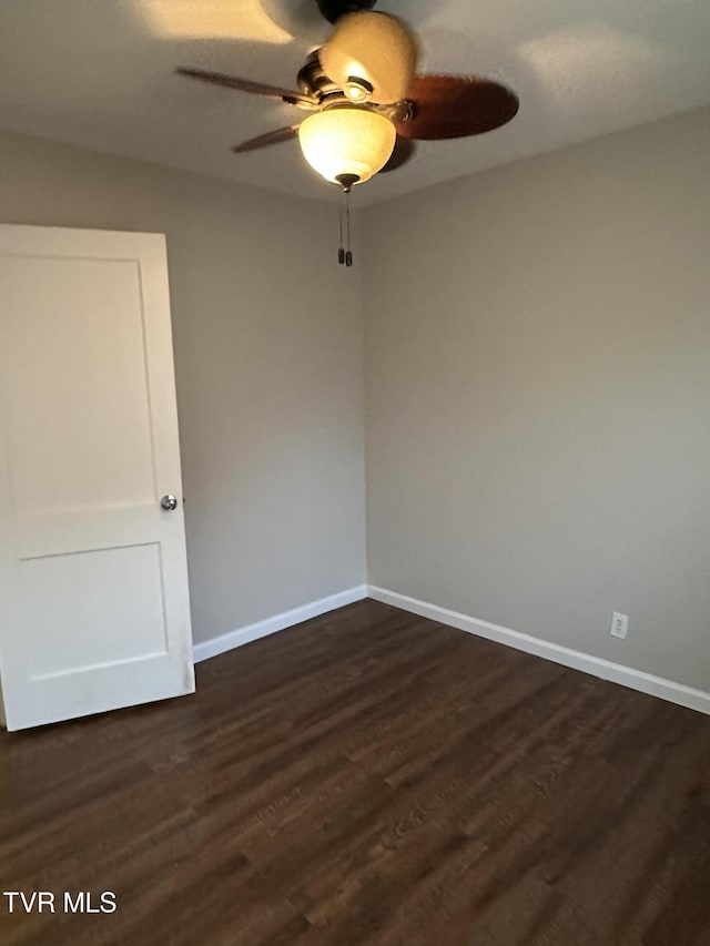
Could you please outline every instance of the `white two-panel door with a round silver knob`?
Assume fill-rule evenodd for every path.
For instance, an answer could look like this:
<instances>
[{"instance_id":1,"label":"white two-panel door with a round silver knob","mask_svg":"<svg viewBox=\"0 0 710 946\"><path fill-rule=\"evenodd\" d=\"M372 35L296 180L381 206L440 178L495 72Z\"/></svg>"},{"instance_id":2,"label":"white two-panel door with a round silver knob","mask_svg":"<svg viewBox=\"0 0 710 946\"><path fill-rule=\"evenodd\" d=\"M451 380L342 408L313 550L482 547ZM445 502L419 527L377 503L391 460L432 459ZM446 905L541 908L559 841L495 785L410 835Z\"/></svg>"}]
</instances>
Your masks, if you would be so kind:
<instances>
[{"instance_id":1,"label":"white two-panel door with a round silver knob","mask_svg":"<svg viewBox=\"0 0 710 946\"><path fill-rule=\"evenodd\" d=\"M0 225L0 679L10 730L194 691L160 234Z\"/></svg>"}]
</instances>

